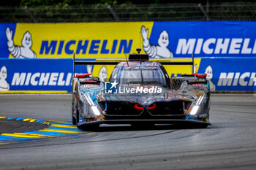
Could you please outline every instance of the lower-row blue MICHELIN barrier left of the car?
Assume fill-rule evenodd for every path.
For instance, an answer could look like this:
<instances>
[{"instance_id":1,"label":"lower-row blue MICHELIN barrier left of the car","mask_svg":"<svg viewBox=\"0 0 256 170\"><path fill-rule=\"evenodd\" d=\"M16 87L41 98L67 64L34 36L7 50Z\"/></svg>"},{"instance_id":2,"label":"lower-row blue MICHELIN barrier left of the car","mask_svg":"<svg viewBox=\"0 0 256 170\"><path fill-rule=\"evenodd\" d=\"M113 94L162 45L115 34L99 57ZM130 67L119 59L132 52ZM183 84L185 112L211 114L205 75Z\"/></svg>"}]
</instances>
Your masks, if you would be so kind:
<instances>
[{"instance_id":1,"label":"lower-row blue MICHELIN barrier left of the car","mask_svg":"<svg viewBox=\"0 0 256 170\"><path fill-rule=\"evenodd\" d=\"M0 59L1 90L61 90L71 92L72 59ZM91 68L92 69L92 68ZM87 73L87 66L76 66Z\"/></svg>"}]
</instances>

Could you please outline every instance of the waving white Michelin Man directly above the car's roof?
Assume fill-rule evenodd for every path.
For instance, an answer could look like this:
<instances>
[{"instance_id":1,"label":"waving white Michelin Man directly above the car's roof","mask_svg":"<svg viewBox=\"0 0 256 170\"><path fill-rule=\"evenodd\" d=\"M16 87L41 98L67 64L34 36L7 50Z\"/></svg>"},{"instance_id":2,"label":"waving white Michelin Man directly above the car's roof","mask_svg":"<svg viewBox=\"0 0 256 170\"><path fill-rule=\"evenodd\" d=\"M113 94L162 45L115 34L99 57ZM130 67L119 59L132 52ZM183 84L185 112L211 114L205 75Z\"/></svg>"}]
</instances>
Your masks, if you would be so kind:
<instances>
[{"instance_id":1,"label":"waving white Michelin Man directly above the car's roof","mask_svg":"<svg viewBox=\"0 0 256 170\"><path fill-rule=\"evenodd\" d=\"M148 40L148 29L141 27L141 35L143 37L143 49L151 58L173 58L173 52L167 47L169 45L169 35L167 31L162 31L158 38L158 45L150 45Z\"/></svg>"}]
</instances>

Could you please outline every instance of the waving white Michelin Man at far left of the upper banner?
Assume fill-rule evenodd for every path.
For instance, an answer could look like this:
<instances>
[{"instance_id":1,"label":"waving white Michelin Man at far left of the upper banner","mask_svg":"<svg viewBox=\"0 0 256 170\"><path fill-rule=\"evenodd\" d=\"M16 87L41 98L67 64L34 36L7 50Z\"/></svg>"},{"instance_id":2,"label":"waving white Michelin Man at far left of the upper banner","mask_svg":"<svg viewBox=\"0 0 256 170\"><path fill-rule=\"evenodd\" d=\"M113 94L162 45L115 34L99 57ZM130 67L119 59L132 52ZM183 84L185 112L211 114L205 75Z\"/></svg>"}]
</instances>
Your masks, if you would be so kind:
<instances>
[{"instance_id":1,"label":"waving white Michelin Man at far left of the upper banner","mask_svg":"<svg viewBox=\"0 0 256 170\"><path fill-rule=\"evenodd\" d=\"M26 31L26 33L23 35L22 39L22 46L19 47L14 44L12 40L12 30L10 30L9 27L7 27L6 30L6 36L7 36L7 46L8 50L15 58L37 58L36 53L34 53L33 50L31 50L32 46L32 39L31 34L29 31Z\"/></svg>"}]
</instances>

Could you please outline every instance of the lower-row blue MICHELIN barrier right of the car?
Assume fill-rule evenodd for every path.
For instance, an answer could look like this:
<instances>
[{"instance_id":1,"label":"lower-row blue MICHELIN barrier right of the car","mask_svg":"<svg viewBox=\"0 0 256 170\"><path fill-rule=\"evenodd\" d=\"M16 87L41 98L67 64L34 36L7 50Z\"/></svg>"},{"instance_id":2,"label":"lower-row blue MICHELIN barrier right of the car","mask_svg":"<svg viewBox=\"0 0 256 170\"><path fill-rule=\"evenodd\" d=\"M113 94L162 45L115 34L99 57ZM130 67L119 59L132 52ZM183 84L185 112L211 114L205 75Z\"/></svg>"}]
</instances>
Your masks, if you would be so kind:
<instances>
[{"instance_id":1,"label":"lower-row blue MICHELIN barrier right of the car","mask_svg":"<svg viewBox=\"0 0 256 170\"><path fill-rule=\"evenodd\" d=\"M255 91L256 58L202 58L198 72L205 72L213 91Z\"/></svg>"}]
</instances>

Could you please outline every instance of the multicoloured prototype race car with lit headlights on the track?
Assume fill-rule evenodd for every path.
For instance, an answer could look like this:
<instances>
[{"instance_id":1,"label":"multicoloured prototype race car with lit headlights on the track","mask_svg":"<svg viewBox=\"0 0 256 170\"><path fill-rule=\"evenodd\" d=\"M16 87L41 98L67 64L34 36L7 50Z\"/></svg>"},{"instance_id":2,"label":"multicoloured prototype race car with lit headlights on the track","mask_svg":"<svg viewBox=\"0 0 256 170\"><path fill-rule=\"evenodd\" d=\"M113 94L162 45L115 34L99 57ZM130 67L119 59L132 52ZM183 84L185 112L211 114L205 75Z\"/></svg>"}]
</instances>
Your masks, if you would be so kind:
<instances>
[{"instance_id":1,"label":"multicoloured prototype race car with lit headlights on the track","mask_svg":"<svg viewBox=\"0 0 256 170\"><path fill-rule=\"evenodd\" d=\"M132 54L129 60L119 62L75 61L74 57L74 66L77 64L116 64L108 82L91 74L74 74L72 123L78 128L100 124L211 125L206 74L169 77L162 66L191 65L193 61L149 61L148 55Z\"/></svg>"}]
</instances>

